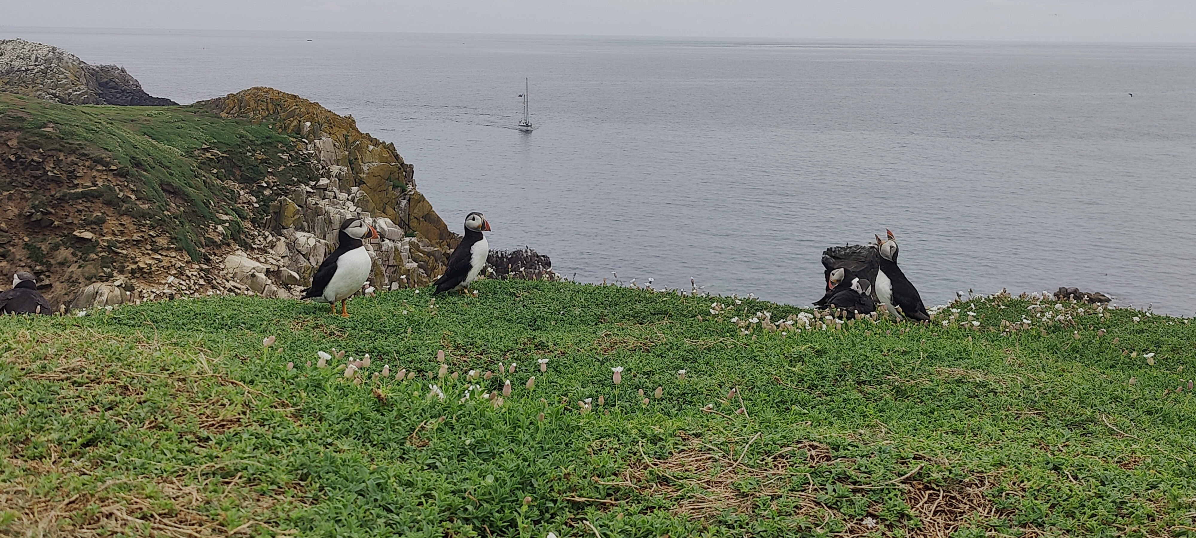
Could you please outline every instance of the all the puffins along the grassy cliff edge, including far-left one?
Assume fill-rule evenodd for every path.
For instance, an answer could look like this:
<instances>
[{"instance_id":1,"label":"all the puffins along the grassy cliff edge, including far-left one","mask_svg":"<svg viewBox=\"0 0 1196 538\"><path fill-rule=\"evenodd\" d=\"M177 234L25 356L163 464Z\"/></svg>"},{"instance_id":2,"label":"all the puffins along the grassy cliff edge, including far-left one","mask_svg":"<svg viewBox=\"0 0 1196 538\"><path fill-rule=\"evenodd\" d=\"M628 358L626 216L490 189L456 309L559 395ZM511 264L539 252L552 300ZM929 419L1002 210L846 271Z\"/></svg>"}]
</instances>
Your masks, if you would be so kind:
<instances>
[{"instance_id":1,"label":"all the puffins along the grassy cliff edge, including far-left one","mask_svg":"<svg viewBox=\"0 0 1196 538\"><path fill-rule=\"evenodd\" d=\"M490 252L482 232L489 231L490 222L481 213L465 216L465 236L448 256L448 268L434 282L433 294L463 291L477 280ZM889 230L885 233L887 239L875 236L875 244L832 246L823 252L826 292L814 306L846 316L867 316L879 308L896 319L930 319L917 289L897 267L893 233ZM341 316L349 317L347 302L361 291L373 269L364 242L377 237L378 231L361 219L342 222L336 250L319 264L303 299L328 302L332 314L340 301ZM0 313L50 313L49 302L37 292L33 275L17 273L12 283L12 289L0 293Z\"/></svg>"}]
</instances>

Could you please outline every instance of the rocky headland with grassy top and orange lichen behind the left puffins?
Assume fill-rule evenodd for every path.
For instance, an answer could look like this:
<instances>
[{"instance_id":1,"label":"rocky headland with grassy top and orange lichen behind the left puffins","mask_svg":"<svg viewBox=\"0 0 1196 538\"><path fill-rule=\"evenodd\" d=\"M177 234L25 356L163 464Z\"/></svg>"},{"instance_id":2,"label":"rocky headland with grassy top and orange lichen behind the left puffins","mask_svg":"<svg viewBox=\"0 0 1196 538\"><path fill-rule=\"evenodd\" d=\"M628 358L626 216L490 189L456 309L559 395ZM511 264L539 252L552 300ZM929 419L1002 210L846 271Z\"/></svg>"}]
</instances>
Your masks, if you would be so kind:
<instances>
[{"instance_id":1,"label":"rocky headland with grassy top and orange lichen behind the left puffins","mask_svg":"<svg viewBox=\"0 0 1196 538\"><path fill-rule=\"evenodd\" d=\"M270 88L193 106L0 94L0 274L61 305L294 296L344 219L382 237L372 286L426 286L452 233L413 167L352 118Z\"/></svg>"}]
</instances>

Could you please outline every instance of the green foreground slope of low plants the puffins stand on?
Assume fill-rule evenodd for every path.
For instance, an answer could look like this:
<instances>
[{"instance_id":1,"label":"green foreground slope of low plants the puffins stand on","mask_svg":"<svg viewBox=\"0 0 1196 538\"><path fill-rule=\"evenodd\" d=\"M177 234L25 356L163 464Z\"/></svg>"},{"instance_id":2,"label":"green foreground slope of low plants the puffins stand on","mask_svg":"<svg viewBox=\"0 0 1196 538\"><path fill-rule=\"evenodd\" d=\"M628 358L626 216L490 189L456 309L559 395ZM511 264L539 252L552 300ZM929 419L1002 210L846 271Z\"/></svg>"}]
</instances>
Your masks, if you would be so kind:
<instances>
[{"instance_id":1,"label":"green foreground slope of low plants the puffins stand on","mask_svg":"<svg viewBox=\"0 0 1196 538\"><path fill-rule=\"evenodd\" d=\"M1002 335L999 320L1020 320L1029 302L975 300L957 306L978 314L978 331L856 322L742 335L732 316L797 310L744 300L712 316L709 298L548 282L477 288L478 298L434 306L426 291L355 299L348 319L249 298L0 319L0 533L31 533L37 518L53 527L55 511L79 534L1196 527L1188 320L1068 305L1072 325L1043 334L1035 320ZM277 343L263 351L268 335ZM370 353L367 375L384 363L420 375L356 386L334 365L316 367L316 351L330 348ZM435 381L448 397L429 399L438 349L450 372L517 361L514 374L486 384L509 378L512 396L498 409L459 403L460 379ZM533 372L541 357L550 359L544 374ZM617 387L612 366L626 367ZM658 386L663 397L651 399ZM732 387L746 415L738 397L727 401ZM593 412L579 412L582 398L594 398ZM703 412L707 404L718 412Z\"/></svg>"}]
</instances>

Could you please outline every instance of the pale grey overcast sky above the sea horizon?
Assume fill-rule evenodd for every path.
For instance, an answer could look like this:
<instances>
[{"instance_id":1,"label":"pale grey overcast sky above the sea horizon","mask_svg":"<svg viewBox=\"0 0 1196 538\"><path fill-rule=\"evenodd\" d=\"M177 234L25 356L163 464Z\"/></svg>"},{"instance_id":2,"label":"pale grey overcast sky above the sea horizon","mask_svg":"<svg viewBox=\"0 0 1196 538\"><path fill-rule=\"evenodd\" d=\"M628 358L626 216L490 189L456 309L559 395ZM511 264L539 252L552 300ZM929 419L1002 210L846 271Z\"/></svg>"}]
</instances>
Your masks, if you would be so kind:
<instances>
[{"instance_id":1,"label":"pale grey overcast sky above the sea horizon","mask_svg":"<svg viewBox=\"0 0 1196 538\"><path fill-rule=\"evenodd\" d=\"M0 0L0 25L1196 42L1196 0Z\"/></svg>"}]
</instances>

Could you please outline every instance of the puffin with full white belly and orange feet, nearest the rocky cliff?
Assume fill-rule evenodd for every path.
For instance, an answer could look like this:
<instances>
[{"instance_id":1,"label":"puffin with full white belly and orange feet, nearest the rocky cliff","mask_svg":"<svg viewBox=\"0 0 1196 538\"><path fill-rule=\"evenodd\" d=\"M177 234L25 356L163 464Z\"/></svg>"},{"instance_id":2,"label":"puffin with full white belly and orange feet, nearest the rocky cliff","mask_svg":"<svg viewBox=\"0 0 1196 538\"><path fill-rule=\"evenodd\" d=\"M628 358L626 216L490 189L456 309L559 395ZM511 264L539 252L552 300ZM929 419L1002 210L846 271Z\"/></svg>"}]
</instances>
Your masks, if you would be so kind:
<instances>
[{"instance_id":1,"label":"puffin with full white belly and orange feet, nearest the rocky cliff","mask_svg":"<svg viewBox=\"0 0 1196 538\"><path fill-rule=\"evenodd\" d=\"M342 222L337 233L340 244L316 269L316 276L311 279L311 287L304 289L303 299L330 304L332 314L336 314L336 301L341 301L341 317L349 317L344 302L361 291L373 268L370 252L361 240L377 238L378 231L361 219L347 219Z\"/></svg>"}]
</instances>

